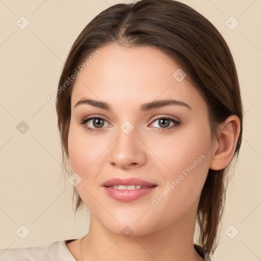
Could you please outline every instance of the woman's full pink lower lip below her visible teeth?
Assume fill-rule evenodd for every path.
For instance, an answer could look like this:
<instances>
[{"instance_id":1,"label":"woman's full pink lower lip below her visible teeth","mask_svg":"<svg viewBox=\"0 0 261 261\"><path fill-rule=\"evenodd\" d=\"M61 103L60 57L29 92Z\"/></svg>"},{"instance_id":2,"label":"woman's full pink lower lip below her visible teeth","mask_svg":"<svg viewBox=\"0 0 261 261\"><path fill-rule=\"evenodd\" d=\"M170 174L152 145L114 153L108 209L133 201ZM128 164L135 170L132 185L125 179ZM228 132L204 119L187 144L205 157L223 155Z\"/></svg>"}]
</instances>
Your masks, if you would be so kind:
<instances>
[{"instance_id":1,"label":"woman's full pink lower lip below her visible teeth","mask_svg":"<svg viewBox=\"0 0 261 261\"><path fill-rule=\"evenodd\" d=\"M138 199L144 195L151 193L157 186L146 188L146 189L137 189L137 190L118 190L110 187L103 187L106 190L106 193L119 201L122 202L131 202L135 199Z\"/></svg>"}]
</instances>

